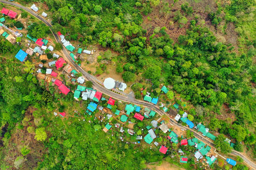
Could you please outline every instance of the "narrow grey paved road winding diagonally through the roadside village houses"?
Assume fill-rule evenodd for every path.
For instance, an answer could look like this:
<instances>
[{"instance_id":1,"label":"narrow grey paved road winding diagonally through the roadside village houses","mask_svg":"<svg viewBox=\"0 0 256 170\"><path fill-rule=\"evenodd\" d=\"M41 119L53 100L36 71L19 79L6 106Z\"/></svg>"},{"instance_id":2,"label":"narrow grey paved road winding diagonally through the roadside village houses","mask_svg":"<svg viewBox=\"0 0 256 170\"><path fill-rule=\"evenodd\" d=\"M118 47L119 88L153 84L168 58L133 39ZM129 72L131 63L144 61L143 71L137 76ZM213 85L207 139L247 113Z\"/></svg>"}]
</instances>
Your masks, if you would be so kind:
<instances>
[{"instance_id":1,"label":"narrow grey paved road winding diagonally through the roadside village houses","mask_svg":"<svg viewBox=\"0 0 256 170\"><path fill-rule=\"evenodd\" d=\"M45 20L44 18L42 18L41 16L37 15L37 13L33 12L30 8L27 8L27 7L24 7L20 4L16 4L16 3L12 3L12 2L8 2L8 1L3 1L3 0L0 0L0 2L4 3L4 4L8 4L8 5L12 5L12 6L16 6L16 7L19 7L21 9L24 9L26 10L27 12L31 13L33 16L35 16L36 18L38 18L39 20L43 21L46 25L48 25L52 31L52 24L50 24L47 20ZM52 31L53 32L53 31ZM58 35L56 33L53 32L53 35L55 37L55 39L58 41L58 43L61 43L60 41L60 38L58 37ZM181 124L178 124L174 119L172 119L168 114L166 114L163 110L161 110L158 106L156 105L153 105L151 103L147 103L147 102L144 102L144 101L140 101L140 100L136 100L132 97L129 97L127 95L121 95L121 94L118 94L118 93L115 93L113 91L110 91L110 90L107 90L106 88L104 88L103 86L101 86L101 82L99 82L97 80L97 78L95 78L94 76L88 74L87 72L85 72L85 70L77 65L73 60L72 58L70 57L69 55L69 52L66 50L66 48L63 48L62 49L63 51L63 54L65 54L64 58L69 62L69 64L71 66L73 66L74 68L76 68L79 72L81 72L83 74L83 76L87 79L87 80L90 80L93 82L93 85L94 85L94 89L102 92L102 93L105 93L105 94L108 94L109 96L112 96L114 98L117 98L118 100L121 100L121 101L124 101L124 102L129 102L129 103L133 103L133 104L136 104L136 105L143 105L143 106L146 106L146 107L150 107L151 109L155 110L158 112L159 115L167 115L172 124L175 124L176 126L180 127L181 129L183 130L190 130L190 131L193 131L194 132L194 135L195 137L199 138L200 140L206 142L207 144L209 144L211 147L214 148L214 144L212 143L212 141L210 139L208 139L207 137L204 137L202 136L200 133L198 133L197 131L195 130L191 130L189 129L188 127L186 126L182 126ZM99 83L99 84L98 84ZM244 159L244 161L247 163L247 165L249 165L251 168L253 169L256 169L256 165L254 164L254 162L252 162L250 159L248 159L245 155L241 154L240 152L237 152L235 150L232 151L233 155L238 155L239 157L241 157L242 159Z\"/></svg>"}]
</instances>

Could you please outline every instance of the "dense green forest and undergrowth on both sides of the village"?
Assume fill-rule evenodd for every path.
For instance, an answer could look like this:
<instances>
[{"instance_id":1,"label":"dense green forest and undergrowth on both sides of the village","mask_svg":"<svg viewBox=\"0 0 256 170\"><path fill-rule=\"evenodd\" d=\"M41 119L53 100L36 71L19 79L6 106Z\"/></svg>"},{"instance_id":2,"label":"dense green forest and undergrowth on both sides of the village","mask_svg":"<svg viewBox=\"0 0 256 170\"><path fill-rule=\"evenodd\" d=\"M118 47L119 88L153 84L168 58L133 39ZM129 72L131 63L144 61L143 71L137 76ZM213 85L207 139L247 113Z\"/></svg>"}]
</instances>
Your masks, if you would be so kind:
<instances>
[{"instance_id":1,"label":"dense green forest and undergrowth on both sides of the village","mask_svg":"<svg viewBox=\"0 0 256 170\"><path fill-rule=\"evenodd\" d=\"M19 2L29 4L36 1ZM190 110L195 117L194 122L204 122L206 117L209 118L205 123L212 131L233 139L235 150L243 151L240 143L243 142L247 150L252 150L255 159L255 2L216 1L215 10L204 12L212 27L205 24L199 12L188 2L40 1L52 12L54 32L60 31L67 40L79 41L82 47L99 44L119 53L113 57L120 61L116 63L115 71L122 75L125 82L149 80L153 84L150 87L152 91L160 84L172 87L175 95L195 106ZM168 21L168 25L152 27L150 31L144 29L144 21L151 20L147 16L159 6L159 13L172 16L172 20ZM172 10L174 6L179 9ZM230 24L235 25L237 45L222 42L214 32L221 30L223 35L228 34L226 29ZM171 38L169 27L173 25L178 29L185 27L186 31L176 39ZM35 27L44 31L38 32ZM43 24L34 24L29 32L41 37L49 30ZM17 45L13 46L2 38L0 40L1 56L17 53ZM111 58L104 60L111 61ZM15 129L27 129L35 134L37 140L43 141L44 149L47 148L37 169L143 169L146 163L162 160L163 155L149 148L121 143L116 132L116 135L110 136L98 131L104 125L97 127L97 119L87 117L84 122L75 118L65 121L53 119L52 112L56 108L63 111L63 103L69 103L66 108L73 105L72 94L64 97L55 93L54 89L46 90L45 84L31 74L34 64L29 61L24 64L8 58L0 58L0 61L0 121L2 127L7 127L2 145L7 146ZM142 97L140 91L135 92L135 97ZM233 122L211 115L213 112L221 115L223 105L235 114ZM29 107L36 108L36 111L28 118L25 112ZM31 119L36 121L24 123ZM215 141L215 144L223 149L224 137L218 139L221 140ZM29 153L25 147L22 149L22 155ZM194 151L193 148L188 150ZM24 153L26 151L27 154ZM227 152L230 151L228 149ZM0 151L1 169L9 168L3 161L5 153L6 150ZM16 162L22 162L22 159L19 157ZM193 164L190 161L190 165ZM191 169L191 166L186 168ZM215 165L212 168L221 169ZM236 168L246 169L242 165Z\"/></svg>"}]
</instances>

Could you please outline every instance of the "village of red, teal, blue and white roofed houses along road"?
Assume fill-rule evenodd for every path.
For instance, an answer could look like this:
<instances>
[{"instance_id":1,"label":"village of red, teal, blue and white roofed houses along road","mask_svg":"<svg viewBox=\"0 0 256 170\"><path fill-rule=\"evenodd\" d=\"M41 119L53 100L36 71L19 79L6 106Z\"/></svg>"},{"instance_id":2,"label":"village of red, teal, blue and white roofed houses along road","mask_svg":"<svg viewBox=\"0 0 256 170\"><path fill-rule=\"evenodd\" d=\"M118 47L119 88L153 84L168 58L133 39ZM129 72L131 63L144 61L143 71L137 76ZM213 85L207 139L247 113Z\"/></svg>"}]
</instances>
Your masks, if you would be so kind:
<instances>
[{"instance_id":1,"label":"village of red, teal, blue and white roofed houses along road","mask_svg":"<svg viewBox=\"0 0 256 170\"><path fill-rule=\"evenodd\" d=\"M39 10L35 5L32 5L30 8L35 12ZM3 8L1 13L3 17L0 17L0 35L11 44L16 44L20 38L25 39L24 48L18 51L15 58L20 62L29 60L35 64L36 70L33 74L36 75L39 81L47 82L46 86L48 88L56 87L59 93L63 95L73 93L75 102L88 103L86 111L79 113L82 115L82 117L79 117L79 121L85 121L83 117L98 119L101 124L105 125L101 130L109 133L109 135L113 135L112 130L118 131L121 134L121 142L149 145L150 149L157 148L160 153L165 155L173 152L170 147L175 146L180 163L182 164L195 161L202 163L204 167L208 168L217 162L217 158L220 158L214 148L203 143L194 135L188 136L187 133L189 132L181 130L178 126L172 124L169 117L161 116L155 110L142 105L137 106L132 103L118 101L107 94L93 89L92 84L65 61L62 57L63 54L54 49L55 40L53 38L34 38L29 34L23 35L24 33L21 33L22 28L10 28L5 25L6 20L19 20L20 14L7 8ZM47 13L43 12L41 16L47 17ZM74 47L70 41L65 39L65 36L60 31L57 34L61 39L62 46L70 52L70 57L78 65L81 65L81 62L79 62L81 54L91 55L95 52ZM70 88L70 84L75 86L75 90ZM126 83L116 81L111 77L106 78L101 86L109 90L118 89L119 91L124 91L127 88ZM166 95L169 91L163 85L160 89L161 95ZM140 91L142 95L144 95L143 90L141 89ZM195 125L191 115L183 111L179 104L175 102L168 105L167 103L159 102L159 97L151 97L150 93L146 92L144 95L143 99L145 102L159 106L167 114L170 109L176 110L178 114L171 115L171 118L177 123L200 132L212 141L216 139L216 136L210 133L210 130L205 125L202 123ZM62 119L69 116L65 111L58 113L56 110L53 114L54 116L61 116ZM128 137L127 134L129 134ZM226 141L231 147L234 147L231 140L226 139ZM186 147L192 148L191 150L194 152L190 154L193 157L186 154ZM226 159L226 162L232 166L236 165L236 161L229 158Z\"/></svg>"}]
</instances>

